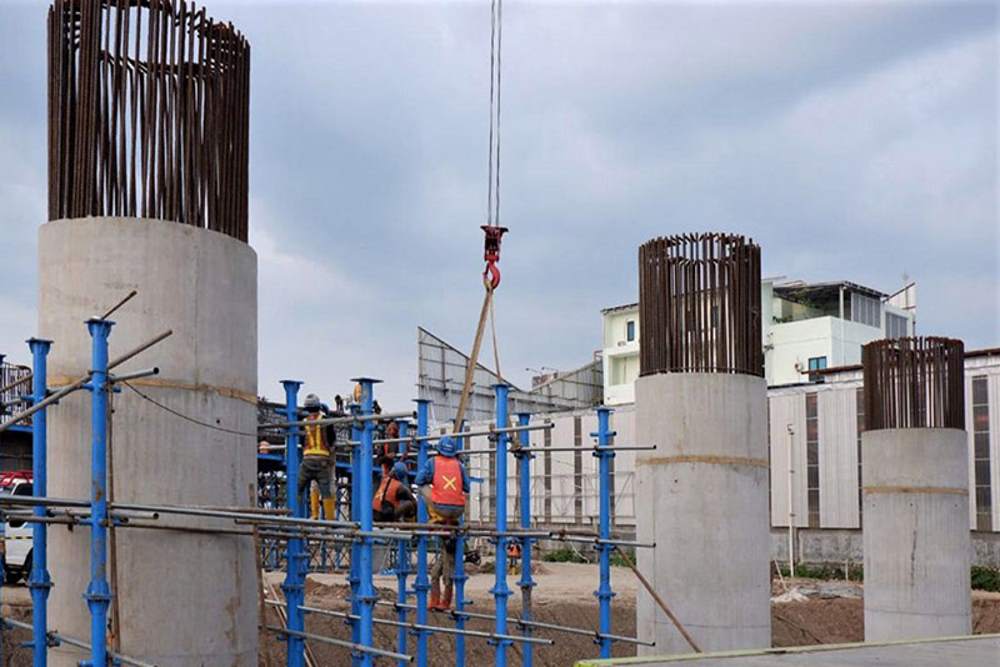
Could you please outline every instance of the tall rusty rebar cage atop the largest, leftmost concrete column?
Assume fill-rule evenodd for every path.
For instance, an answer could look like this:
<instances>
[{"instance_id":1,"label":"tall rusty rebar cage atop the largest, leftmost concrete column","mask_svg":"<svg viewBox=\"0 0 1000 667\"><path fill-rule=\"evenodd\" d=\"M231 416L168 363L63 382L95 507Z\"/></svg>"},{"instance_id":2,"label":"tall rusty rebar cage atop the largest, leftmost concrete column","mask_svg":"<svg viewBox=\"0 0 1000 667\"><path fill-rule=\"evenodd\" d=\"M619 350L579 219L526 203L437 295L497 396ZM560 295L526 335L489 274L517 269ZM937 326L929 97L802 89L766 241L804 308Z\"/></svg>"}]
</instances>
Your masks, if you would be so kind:
<instances>
[{"instance_id":1,"label":"tall rusty rebar cage atop the largest, leftmost concrete column","mask_svg":"<svg viewBox=\"0 0 1000 667\"><path fill-rule=\"evenodd\" d=\"M250 45L185 0L49 8L49 219L247 240Z\"/></svg>"}]
</instances>

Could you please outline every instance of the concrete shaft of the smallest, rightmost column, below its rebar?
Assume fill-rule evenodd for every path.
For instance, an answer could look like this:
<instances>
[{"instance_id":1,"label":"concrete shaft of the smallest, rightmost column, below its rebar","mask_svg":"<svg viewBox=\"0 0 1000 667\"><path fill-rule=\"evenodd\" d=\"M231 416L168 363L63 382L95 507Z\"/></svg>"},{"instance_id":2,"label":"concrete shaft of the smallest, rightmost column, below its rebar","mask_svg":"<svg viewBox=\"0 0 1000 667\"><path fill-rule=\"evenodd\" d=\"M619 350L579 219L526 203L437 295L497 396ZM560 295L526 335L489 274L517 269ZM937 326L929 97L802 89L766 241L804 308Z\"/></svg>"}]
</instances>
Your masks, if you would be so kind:
<instances>
[{"instance_id":1,"label":"concrete shaft of the smallest, rightmost column, below its rebar","mask_svg":"<svg viewBox=\"0 0 1000 667\"><path fill-rule=\"evenodd\" d=\"M865 640L970 634L965 432L867 431L861 447Z\"/></svg>"}]
</instances>

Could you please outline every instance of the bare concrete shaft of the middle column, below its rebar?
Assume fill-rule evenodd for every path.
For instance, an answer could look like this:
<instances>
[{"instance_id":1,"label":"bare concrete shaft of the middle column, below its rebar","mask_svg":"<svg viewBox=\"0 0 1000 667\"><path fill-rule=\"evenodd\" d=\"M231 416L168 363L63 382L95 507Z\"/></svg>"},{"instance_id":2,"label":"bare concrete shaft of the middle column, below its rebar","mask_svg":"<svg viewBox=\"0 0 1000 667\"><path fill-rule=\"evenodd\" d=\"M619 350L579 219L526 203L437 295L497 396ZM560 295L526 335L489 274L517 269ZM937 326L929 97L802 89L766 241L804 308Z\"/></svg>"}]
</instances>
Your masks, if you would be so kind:
<instances>
[{"instance_id":1,"label":"bare concrete shaft of the middle column, below its rebar","mask_svg":"<svg viewBox=\"0 0 1000 667\"><path fill-rule=\"evenodd\" d=\"M661 373L636 382L640 571L702 649L771 645L766 385L721 373ZM691 648L645 590L640 655Z\"/></svg>"}]
</instances>

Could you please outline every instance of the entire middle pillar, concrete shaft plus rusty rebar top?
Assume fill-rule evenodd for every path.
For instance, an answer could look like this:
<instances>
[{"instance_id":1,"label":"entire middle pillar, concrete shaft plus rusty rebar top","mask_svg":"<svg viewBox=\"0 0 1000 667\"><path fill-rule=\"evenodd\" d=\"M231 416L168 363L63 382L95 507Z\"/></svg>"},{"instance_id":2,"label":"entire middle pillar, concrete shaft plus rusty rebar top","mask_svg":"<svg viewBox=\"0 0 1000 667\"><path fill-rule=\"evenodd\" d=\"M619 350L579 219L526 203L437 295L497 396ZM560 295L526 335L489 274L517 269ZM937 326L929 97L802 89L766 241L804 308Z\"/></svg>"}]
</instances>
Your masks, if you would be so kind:
<instances>
[{"instance_id":1,"label":"entire middle pillar, concrete shaft plus rusty rebar top","mask_svg":"<svg viewBox=\"0 0 1000 667\"><path fill-rule=\"evenodd\" d=\"M638 567L704 650L771 643L760 249L739 236L655 239L639 254ZM640 589L642 654L691 647Z\"/></svg>"}]
</instances>

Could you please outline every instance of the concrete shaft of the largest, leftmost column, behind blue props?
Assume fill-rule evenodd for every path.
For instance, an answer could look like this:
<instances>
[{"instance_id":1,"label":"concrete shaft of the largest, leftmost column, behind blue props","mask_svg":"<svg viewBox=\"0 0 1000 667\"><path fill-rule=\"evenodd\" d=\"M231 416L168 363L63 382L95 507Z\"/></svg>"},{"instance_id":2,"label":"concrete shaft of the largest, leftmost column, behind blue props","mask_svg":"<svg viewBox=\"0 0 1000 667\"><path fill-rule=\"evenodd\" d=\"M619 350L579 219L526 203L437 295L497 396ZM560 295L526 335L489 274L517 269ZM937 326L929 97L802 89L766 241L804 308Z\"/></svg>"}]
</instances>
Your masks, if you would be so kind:
<instances>
[{"instance_id":1,"label":"concrete shaft of the largest, leftmost column, behind blue props","mask_svg":"<svg viewBox=\"0 0 1000 667\"><path fill-rule=\"evenodd\" d=\"M119 502L253 506L256 501L257 259L247 244L190 225L134 218L57 220L39 234L39 332L54 340L49 382L84 374L83 321L138 296L112 316L111 358L173 329L117 372L159 366L113 396L113 499ZM87 498L90 397L49 410L49 493ZM161 524L232 522L166 517ZM119 528L109 570L121 618L121 652L161 667L257 665L253 542L235 535ZM50 627L89 636L81 597L88 581L88 530L50 529ZM115 570L117 575L115 576ZM53 665L86 657L49 649Z\"/></svg>"}]
</instances>

